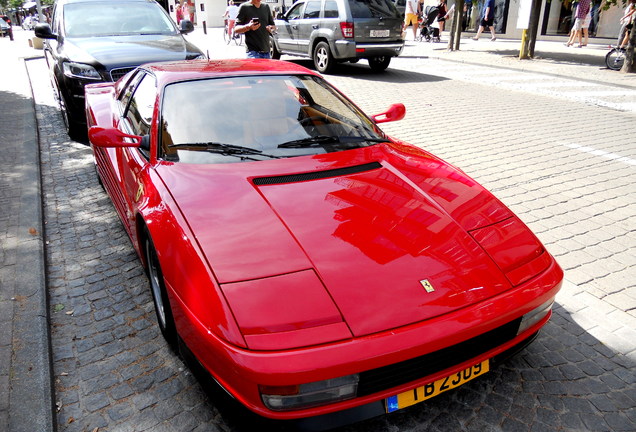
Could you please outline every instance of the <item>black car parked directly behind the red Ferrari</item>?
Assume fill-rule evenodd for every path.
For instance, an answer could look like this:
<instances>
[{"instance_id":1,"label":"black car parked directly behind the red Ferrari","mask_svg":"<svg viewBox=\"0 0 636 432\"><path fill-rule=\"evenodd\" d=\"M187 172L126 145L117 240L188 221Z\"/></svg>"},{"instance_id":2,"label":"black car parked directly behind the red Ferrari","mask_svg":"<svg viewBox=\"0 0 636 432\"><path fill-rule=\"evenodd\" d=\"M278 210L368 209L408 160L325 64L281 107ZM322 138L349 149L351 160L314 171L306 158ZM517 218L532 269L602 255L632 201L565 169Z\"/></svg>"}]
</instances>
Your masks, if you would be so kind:
<instances>
[{"instance_id":1,"label":"black car parked directly behind the red Ferrari","mask_svg":"<svg viewBox=\"0 0 636 432\"><path fill-rule=\"evenodd\" d=\"M58 0L51 24L38 24L56 99L69 136L86 135L84 86L116 81L143 63L204 58L155 1Z\"/></svg>"}]
</instances>

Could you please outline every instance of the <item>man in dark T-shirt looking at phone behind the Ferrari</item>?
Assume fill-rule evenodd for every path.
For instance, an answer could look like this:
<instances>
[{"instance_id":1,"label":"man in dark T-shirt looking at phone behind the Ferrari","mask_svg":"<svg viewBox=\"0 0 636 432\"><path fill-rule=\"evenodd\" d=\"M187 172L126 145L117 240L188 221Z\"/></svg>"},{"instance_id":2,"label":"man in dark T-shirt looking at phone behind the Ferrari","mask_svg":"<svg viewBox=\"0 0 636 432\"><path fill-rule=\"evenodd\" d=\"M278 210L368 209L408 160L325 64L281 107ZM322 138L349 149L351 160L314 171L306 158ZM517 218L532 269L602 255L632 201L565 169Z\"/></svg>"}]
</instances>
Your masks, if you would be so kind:
<instances>
[{"instance_id":1,"label":"man in dark T-shirt looking at phone behind the Ferrari","mask_svg":"<svg viewBox=\"0 0 636 432\"><path fill-rule=\"evenodd\" d=\"M247 58L270 58L269 35L276 30L269 6L250 0L239 7L235 33L245 34Z\"/></svg>"}]
</instances>

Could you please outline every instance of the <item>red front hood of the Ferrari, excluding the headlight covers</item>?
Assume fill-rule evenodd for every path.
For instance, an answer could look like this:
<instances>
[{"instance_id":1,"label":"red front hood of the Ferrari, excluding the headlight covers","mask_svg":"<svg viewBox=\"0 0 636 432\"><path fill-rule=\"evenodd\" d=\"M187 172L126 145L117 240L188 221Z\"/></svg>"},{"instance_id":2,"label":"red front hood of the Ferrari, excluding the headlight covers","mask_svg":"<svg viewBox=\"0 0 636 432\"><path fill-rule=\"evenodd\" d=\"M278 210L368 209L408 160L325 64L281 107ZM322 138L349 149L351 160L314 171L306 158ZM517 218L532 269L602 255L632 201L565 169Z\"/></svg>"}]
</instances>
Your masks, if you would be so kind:
<instances>
[{"instance_id":1,"label":"red front hood of the Ferrari, excluding the headlight covers","mask_svg":"<svg viewBox=\"0 0 636 432\"><path fill-rule=\"evenodd\" d=\"M467 232L509 210L410 146L158 172L220 284L313 269L354 336L510 288Z\"/></svg>"}]
</instances>

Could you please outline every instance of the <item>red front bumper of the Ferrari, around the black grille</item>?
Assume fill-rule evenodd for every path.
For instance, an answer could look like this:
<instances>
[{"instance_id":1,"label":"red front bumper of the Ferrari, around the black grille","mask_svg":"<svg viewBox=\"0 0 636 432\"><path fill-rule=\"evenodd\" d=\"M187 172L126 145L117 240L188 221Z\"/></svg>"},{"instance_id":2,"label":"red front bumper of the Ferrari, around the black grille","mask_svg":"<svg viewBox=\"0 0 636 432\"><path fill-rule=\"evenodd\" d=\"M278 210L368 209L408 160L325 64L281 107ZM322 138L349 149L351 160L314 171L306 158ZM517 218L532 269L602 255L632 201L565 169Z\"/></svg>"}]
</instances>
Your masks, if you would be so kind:
<instances>
[{"instance_id":1,"label":"red front bumper of the Ferrari, around the black grille","mask_svg":"<svg viewBox=\"0 0 636 432\"><path fill-rule=\"evenodd\" d=\"M552 261L531 281L446 315L366 337L276 352L248 351L227 344L203 328L195 317L182 315L185 305L178 298L172 304L181 309L177 311L182 317L179 332L188 348L215 380L250 410L280 420L348 410L353 417L347 418L355 421L359 416L383 414L384 399L389 396L527 343L550 314L517 335L521 316L554 298L562 278L563 272ZM431 356L438 366L422 369ZM259 385L294 385L350 374L360 375L356 398L308 409L271 411L263 405L258 391Z\"/></svg>"}]
</instances>

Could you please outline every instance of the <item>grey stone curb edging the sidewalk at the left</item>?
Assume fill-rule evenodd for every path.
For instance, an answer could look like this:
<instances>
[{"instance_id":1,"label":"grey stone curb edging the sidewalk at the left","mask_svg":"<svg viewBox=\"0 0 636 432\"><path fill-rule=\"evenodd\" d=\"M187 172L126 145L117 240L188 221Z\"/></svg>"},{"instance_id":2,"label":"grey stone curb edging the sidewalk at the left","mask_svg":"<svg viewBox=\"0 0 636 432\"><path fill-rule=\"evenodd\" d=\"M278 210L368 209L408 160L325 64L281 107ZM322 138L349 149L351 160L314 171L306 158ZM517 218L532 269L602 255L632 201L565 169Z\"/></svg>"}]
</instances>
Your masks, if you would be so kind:
<instances>
[{"instance_id":1,"label":"grey stone curb edging the sidewalk at the left","mask_svg":"<svg viewBox=\"0 0 636 432\"><path fill-rule=\"evenodd\" d=\"M24 59L20 66L26 71ZM28 76L28 71L27 76ZM21 160L23 179L17 216L16 296L13 306L13 358L9 388L11 432L56 430L53 367L46 292L40 149L35 101L16 101L12 111L24 118Z\"/></svg>"}]
</instances>

